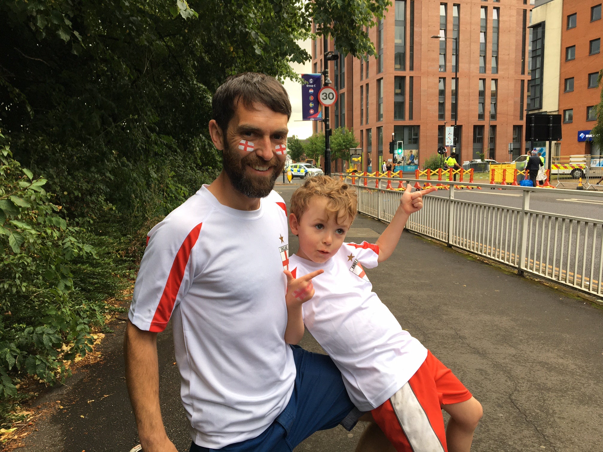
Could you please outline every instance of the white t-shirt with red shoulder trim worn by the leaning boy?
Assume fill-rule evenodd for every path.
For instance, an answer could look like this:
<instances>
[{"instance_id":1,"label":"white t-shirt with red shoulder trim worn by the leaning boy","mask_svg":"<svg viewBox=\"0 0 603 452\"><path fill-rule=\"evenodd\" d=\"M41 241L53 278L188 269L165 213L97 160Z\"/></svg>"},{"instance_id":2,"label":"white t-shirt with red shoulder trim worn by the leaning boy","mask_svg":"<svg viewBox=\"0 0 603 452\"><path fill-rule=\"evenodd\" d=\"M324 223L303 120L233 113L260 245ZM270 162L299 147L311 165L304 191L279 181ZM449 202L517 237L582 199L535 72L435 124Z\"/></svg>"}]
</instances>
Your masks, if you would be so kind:
<instances>
[{"instance_id":1,"label":"white t-shirt with red shoulder trim worn by the leaning boy","mask_svg":"<svg viewBox=\"0 0 603 452\"><path fill-rule=\"evenodd\" d=\"M303 304L308 331L333 359L350 399L369 411L402 388L427 357L427 349L400 327L364 272L377 266L379 247L344 243L323 264L289 258L295 277L324 269L312 279L314 297Z\"/></svg>"}]
</instances>

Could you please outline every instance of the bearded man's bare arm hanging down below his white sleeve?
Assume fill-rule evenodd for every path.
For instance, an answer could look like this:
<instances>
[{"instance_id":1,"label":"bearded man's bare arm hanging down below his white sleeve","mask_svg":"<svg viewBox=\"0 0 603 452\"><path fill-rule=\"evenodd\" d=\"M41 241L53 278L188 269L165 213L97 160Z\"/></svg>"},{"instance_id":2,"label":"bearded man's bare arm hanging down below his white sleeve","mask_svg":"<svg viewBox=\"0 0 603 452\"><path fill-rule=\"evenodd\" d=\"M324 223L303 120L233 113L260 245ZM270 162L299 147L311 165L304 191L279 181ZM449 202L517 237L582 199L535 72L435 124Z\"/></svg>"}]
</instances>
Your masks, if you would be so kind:
<instances>
[{"instance_id":1,"label":"bearded man's bare arm hanging down below his white sleeve","mask_svg":"<svg viewBox=\"0 0 603 452\"><path fill-rule=\"evenodd\" d=\"M159 406L157 333L143 331L128 320L124 338L125 381L138 436L145 452L177 452L163 427Z\"/></svg>"}]
</instances>

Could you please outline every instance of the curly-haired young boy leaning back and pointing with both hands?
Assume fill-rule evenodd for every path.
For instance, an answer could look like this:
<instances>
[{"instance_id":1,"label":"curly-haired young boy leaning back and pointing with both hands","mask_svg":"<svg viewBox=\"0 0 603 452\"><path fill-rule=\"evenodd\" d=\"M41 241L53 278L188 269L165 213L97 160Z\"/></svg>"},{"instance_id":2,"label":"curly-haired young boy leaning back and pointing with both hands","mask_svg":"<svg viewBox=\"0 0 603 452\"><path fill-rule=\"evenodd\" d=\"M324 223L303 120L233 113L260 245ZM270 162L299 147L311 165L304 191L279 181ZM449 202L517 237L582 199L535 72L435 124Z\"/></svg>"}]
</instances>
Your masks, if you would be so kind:
<instances>
[{"instance_id":1,"label":"curly-haired young boy leaning back and pointing with both hands","mask_svg":"<svg viewBox=\"0 0 603 452\"><path fill-rule=\"evenodd\" d=\"M408 216L423 207L423 195L432 190L411 193L408 184L374 245L344 243L356 216L352 187L317 176L295 191L289 224L299 249L289 258L291 272L285 271L285 341L297 344L305 324L338 366L353 403L371 412L397 451L468 452L481 405L450 369L402 330L362 268L390 257ZM305 276L294 279L298 275ZM446 432L441 409L451 416Z\"/></svg>"}]
</instances>

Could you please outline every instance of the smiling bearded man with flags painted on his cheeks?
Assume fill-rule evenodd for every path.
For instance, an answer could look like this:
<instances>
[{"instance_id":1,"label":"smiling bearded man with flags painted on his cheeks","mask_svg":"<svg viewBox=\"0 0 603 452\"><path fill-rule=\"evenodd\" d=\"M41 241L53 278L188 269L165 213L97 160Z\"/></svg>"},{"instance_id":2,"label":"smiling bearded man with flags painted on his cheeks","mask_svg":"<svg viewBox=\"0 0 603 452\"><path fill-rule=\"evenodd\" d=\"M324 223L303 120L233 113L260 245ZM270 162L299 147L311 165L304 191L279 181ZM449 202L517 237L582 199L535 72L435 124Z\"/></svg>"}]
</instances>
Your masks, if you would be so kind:
<instances>
[{"instance_id":1,"label":"smiling bearded man with flags painted on his cheeks","mask_svg":"<svg viewBox=\"0 0 603 452\"><path fill-rule=\"evenodd\" d=\"M212 105L224 168L148 233L124 342L130 400L142 449L174 452L156 345L172 319L191 451L291 451L358 416L332 360L284 339L288 227L272 189L291 105L277 80L253 73L230 77Z\"/></svg>"}]
</instances>

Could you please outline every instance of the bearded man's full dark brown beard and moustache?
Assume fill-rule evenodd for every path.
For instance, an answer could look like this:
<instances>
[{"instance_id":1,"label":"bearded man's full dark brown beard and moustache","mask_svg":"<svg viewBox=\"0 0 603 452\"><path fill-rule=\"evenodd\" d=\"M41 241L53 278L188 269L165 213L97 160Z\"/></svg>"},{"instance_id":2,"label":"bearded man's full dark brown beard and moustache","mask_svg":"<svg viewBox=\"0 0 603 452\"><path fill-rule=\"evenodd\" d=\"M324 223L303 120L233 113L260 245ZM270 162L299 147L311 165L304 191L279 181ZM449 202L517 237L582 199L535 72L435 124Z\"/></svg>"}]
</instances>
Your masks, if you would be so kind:
<instances>
[{"instance_id":1,"label":"bearded man's full dark brown beard and moustache","mask_svg":"<svg viewBox=\"0 0 603 452\"><path fill-rule=\"evenodd\" d=\"M235 190L247 196L248 198L265 198L272 191L274 182L279 174L285 168L285 162L273 155L272 159L266 162L251 152L242 159L238 159L238 152L230 148L229 143L224 143L222 152L222 165L224 172L228 176L230 183ZM270 177L252 176L247 174L247 166L268 166L267 172Z\"/></svg>"}]
</instances>

